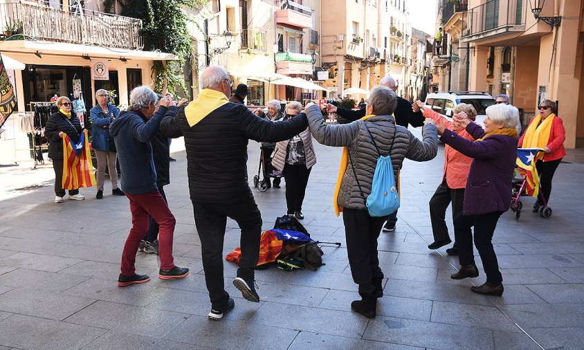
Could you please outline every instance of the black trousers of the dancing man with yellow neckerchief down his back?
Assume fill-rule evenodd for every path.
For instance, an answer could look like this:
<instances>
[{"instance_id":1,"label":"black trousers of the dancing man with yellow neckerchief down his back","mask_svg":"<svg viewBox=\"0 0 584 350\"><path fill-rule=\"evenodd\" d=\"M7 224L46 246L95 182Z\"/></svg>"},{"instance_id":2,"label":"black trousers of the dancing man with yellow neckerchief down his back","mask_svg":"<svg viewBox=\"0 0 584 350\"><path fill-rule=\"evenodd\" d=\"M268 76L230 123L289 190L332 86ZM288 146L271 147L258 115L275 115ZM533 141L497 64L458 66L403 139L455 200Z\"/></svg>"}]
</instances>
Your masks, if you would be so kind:
<instances>
[{"instance_id":1,"label":"black trousers of the dancing man with yellow neckerchief down his back","mask_svg":"<svg viewBox=\"0 0 584 350\"><path fill-rule=\"evenodd\" d=\"M235 220L241 229L241 259L237 277L253 279L259 258L262 216L253 197L235 204L192 202L192 208L194 224L201 239L203 270L211 305L215 310L224 310L229 300L223 284L223 239L227 218Z\"/></svg>"}]
</instances>

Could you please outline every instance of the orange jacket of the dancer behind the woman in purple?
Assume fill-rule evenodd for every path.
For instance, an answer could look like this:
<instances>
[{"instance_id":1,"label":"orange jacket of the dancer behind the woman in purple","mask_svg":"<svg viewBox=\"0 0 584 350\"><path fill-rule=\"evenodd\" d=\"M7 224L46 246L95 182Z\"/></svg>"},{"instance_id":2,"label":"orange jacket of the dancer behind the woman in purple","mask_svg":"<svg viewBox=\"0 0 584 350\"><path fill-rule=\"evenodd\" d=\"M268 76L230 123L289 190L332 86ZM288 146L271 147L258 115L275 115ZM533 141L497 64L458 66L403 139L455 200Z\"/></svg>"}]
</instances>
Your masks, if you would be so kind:
<instances>
[{"instance_id":1,"label":"orange jacket of the dancer behind the woman in purple","mask_svg":"<svg viewBox=\"0 0 584 350\"><path fill-rule=\"evenodd\" d=\"M453 122L450 122L450 120L444 118L441 114L432 111L432 109L426 109L423 112L423 116L441 122L444 127L454 131ZM455 133L467 140L475 140L465 129L455 131ZM452 189L466 187L466 178L468 177L468 172L471 170L472 161L473 158L464 156L464 154L449 145L444 145L444 173L442 175L442 181L446 177L446 184Z\"/></svg>"}]
</instances>

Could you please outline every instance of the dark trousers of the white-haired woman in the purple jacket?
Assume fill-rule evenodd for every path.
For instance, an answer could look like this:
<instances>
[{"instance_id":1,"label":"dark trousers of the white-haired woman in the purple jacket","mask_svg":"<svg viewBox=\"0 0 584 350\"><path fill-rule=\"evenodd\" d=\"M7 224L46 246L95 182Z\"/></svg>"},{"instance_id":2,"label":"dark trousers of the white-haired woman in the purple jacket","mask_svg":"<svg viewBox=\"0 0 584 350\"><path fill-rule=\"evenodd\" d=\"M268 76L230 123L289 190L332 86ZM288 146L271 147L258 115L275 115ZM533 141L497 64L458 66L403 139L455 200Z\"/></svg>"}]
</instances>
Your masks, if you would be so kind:
<instances>
[{"instance_id":1,"label":"dark trousers of the white-haired woman in the purple jacket","mask_svg":"<svg viewBox=\"0 0 584 350\"><path fill-rule=\"evenodd\" d=\"M475 265L473 255L473 232L475 226L475 246L479 251L486 282L500 284L503 277L499 271L499 263L493 249L493 233L497 221L503 212L490 212L480 215L464 215L462 212L454 219L454 234L458 243L458 259L461 265Z\"/></svg>"}]
</instances>

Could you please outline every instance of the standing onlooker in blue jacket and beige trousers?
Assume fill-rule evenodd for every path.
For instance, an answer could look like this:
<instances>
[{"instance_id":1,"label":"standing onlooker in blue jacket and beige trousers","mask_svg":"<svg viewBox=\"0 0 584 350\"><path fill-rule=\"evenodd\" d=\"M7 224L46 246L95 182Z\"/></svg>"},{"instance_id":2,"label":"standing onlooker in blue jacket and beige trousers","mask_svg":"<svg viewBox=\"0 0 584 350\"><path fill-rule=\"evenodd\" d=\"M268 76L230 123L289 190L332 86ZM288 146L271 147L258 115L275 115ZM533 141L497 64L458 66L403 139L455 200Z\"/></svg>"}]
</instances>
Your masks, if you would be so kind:
<instances>
[{"instance_id":1,"label":"standing onlooker in blue jacket and beige trousers","mask_svg":"<svg viewBox=\"0 0 584 350\"><path fill-rule=\"evenodd\" d=\"M114 196L123 196L124 192L118 188L118 172L116 169L116 145L113 138L109 136L109 125L114 118L118 118L120 112L118 109L107 103L107 91L99 89L95 91L95 99L98 104L90 111L91 116L91 148L95 151L95 158L98 160L98 172L96 181L98 193L95 198L103 198L103 183L105 177L105 165L109 168L109 178L111 179L111 194Z\"/></svg>"}]
</instances>

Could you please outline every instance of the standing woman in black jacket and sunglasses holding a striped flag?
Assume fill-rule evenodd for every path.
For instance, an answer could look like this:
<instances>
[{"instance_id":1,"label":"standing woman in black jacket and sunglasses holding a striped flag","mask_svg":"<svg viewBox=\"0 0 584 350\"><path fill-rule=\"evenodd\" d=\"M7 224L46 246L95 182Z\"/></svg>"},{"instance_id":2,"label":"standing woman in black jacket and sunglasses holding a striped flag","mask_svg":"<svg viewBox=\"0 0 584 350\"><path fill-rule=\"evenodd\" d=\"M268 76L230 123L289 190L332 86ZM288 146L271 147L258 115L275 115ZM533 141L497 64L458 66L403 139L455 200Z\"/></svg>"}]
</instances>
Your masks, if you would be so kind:
<instances>
[{"instance_id":1,"label":"standing woman in black jacket and sunglasses holding a striped flag","mask_svg":"<svg viewBox=\"0 0 584 350\"><path fill-rule=\"evenodd\" d=\"M53 160L53 170L55 170L55 203L62 203L65 197L63 189L63 140L64 135L69 136L71 142L76 144L83 132L81 123L76 116L71 113L73 104L66 96L57 98L59 111L53 113L46 122L44 134L48 138L48 158ZM79 194L79 189L69 190L68 199L82 201L84 196Z\"/></svg>"}]
</instances>

